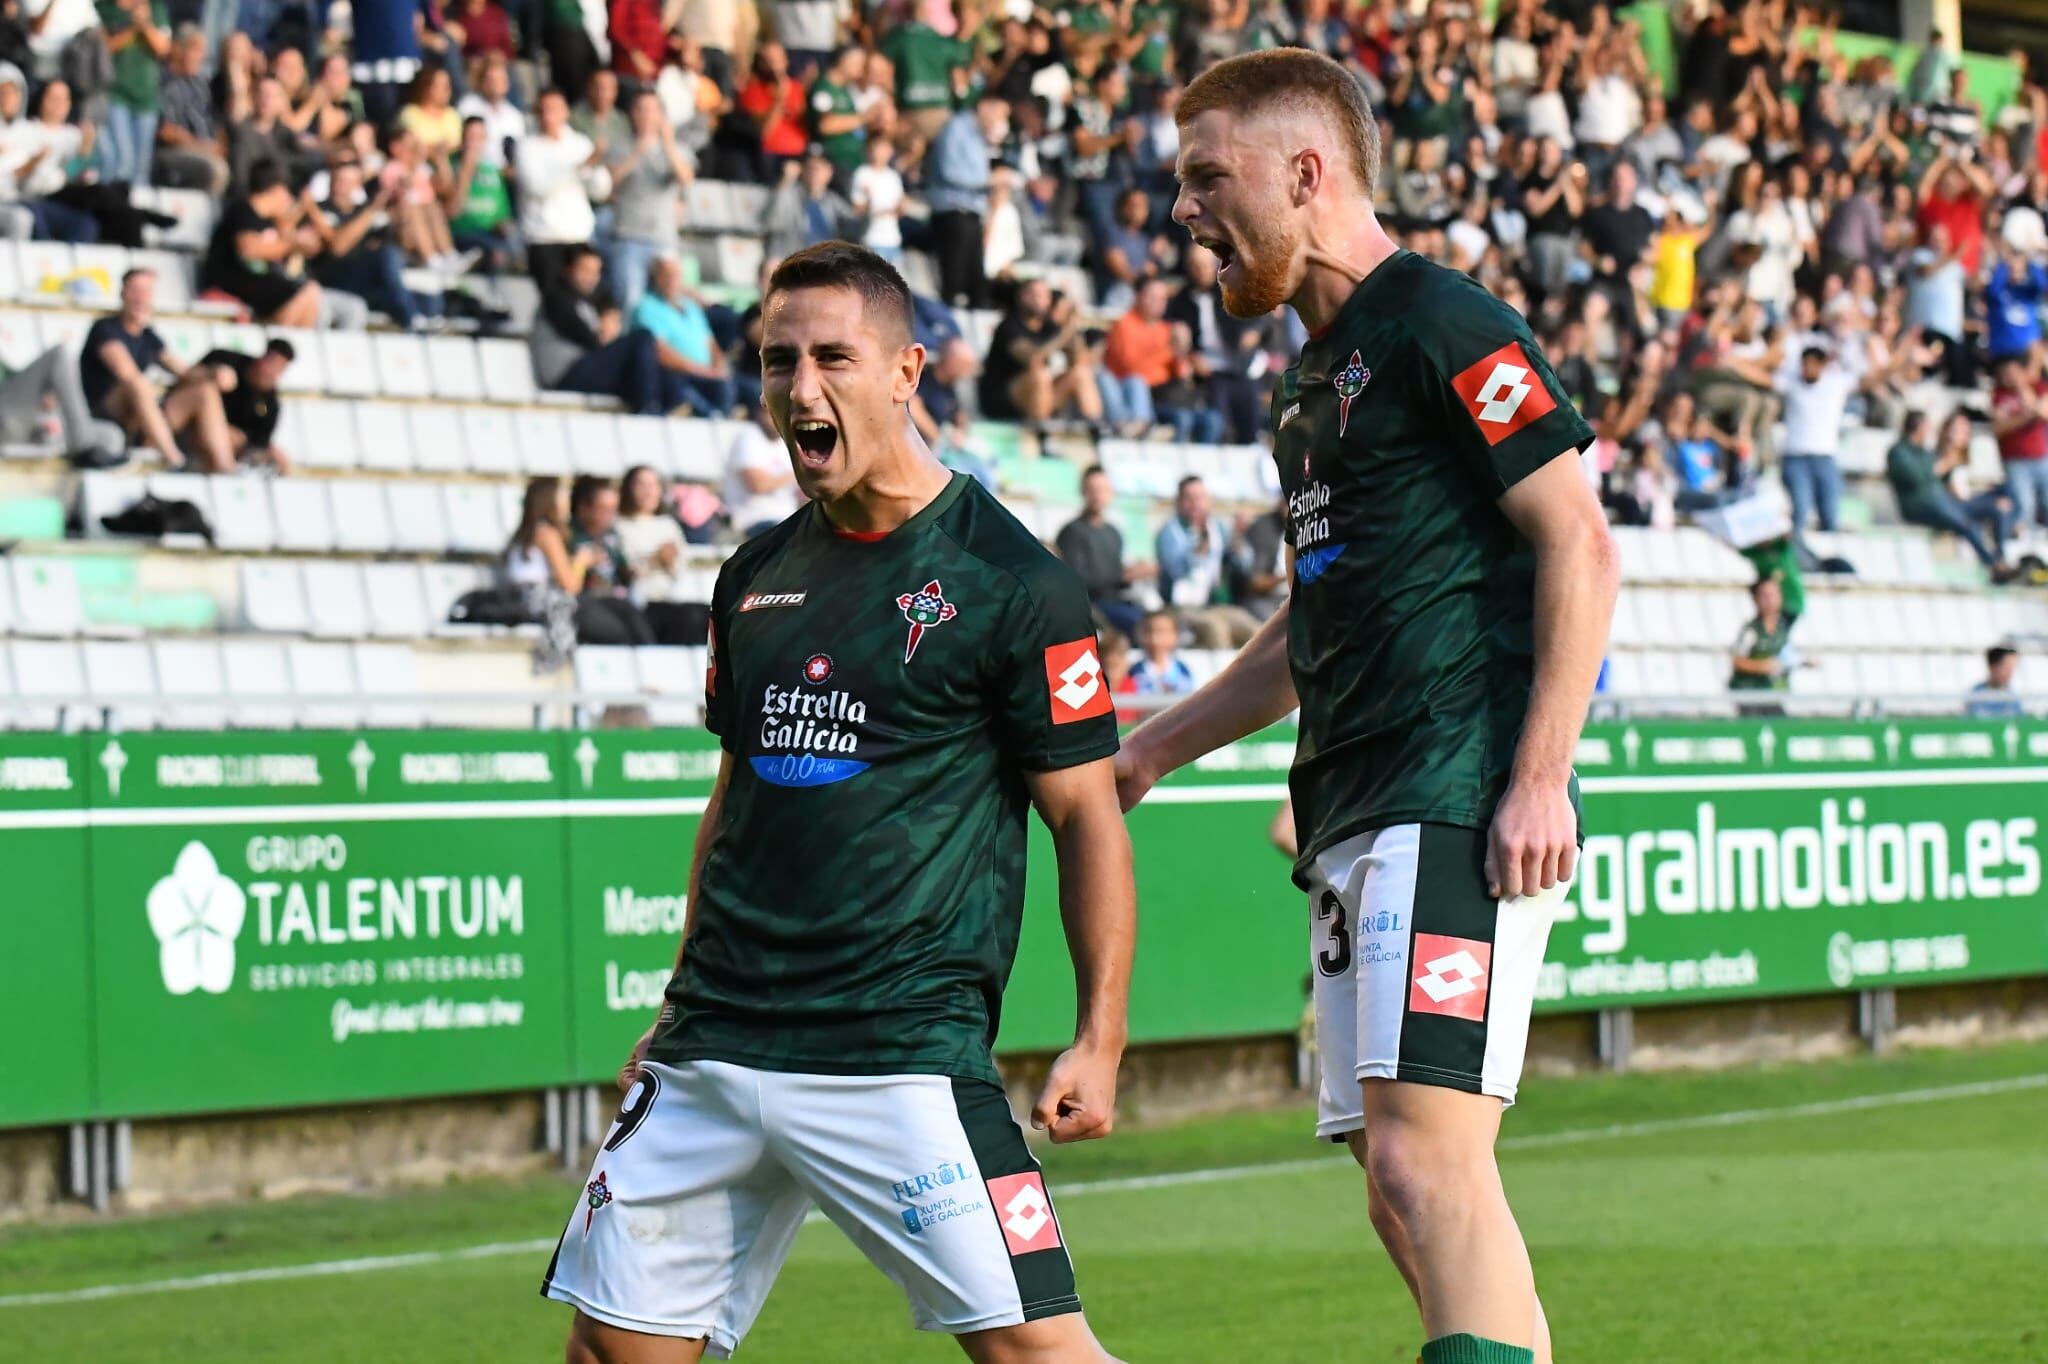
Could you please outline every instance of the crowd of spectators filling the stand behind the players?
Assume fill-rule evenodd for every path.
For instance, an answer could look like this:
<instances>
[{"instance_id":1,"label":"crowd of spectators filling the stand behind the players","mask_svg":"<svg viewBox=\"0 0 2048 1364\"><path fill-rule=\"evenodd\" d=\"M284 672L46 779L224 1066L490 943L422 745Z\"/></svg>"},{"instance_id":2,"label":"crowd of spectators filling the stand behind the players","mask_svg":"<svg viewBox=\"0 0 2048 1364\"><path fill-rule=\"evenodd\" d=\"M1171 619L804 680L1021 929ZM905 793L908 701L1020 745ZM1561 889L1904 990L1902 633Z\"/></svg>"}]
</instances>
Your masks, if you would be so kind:
<instances>
[{"instance_id":1,"label":"crowd of spectators filling the stand behind the players","mask_svg":"<svg viewBox=\"0 0 2048 1364\"><path fill-rule=\"evenodd\" d=\"M1782 479L1790 545L1759 565L1823 567L1804 532L1839 522L1860 422L1896 432L1903 520L2019 576L2048 520L2042 80L2015 53L2017 96L1985 111L1939 37L1909 70L1851 59L1788 0L1688 0L1673 25L1667 88L1636 23L1587 0L1491 20L1468 0L4 0L0 227L135 242L131 184L205 188L201 285L254 319L494 328L471 283L524 272L545 387L748 416L758 311L694 287L684 205L698 176L756 184L764 266L836 236L926 266L913 416L956 467L991 477L975 416L1255 442L1303 336L1284 309L1229 317L1174 229L1171 115L1208 63L1305 45L1380 111L1397 236L1530 317L1618 522L1712 524ZM963 309L999 315L985 348ZM233 391L207 360L158 420L135 367L88 358L92 416L209 469L240 449L283 467L188 393ZM1966 401L1913 410L1927 379ZM739 430L725 487L627 502L686 508L690 539L772 522L795 489L772 436ZM1997 483L1970 481L1980 430ZM1159 606L1237 643L1278 600L1272 512L1219 516L1190 481L1128 551L1108 477L1083 492L1059 549L1133 643ZM535 549L553 496L512 557L582 590L602 565Z\"/></svg>"}]
</instances>

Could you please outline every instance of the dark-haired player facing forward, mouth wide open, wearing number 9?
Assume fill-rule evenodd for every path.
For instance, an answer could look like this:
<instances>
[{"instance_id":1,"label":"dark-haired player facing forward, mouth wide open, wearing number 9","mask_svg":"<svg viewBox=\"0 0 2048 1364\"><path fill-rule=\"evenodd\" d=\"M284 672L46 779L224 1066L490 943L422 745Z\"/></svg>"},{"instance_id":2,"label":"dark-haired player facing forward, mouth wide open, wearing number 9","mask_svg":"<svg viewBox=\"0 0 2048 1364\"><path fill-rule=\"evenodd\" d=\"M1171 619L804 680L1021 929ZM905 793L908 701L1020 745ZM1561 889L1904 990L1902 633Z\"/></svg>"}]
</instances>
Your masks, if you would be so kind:
<instances>
[{"instance_id":1,"label":"dark-haired player facing forward, mouth wide open, wearing number 9","mask_svg":"<svg viewBox=\"0 0 2048 1364\"><path fill-rule=\"evenodd\" d=\"M1137 899L1116 719L1079 580L918 438L922 369L881 256L831 242L770 276L764 397L811 500L713 592L725 752L676 975L543 1284L578 1307L571 1362L731 1354L813 1202L969 1358L1108 1358L989 1049L1036 807L1077 1030L1032 1124L1110 1131Z\"/></svg>"}]
</instances>

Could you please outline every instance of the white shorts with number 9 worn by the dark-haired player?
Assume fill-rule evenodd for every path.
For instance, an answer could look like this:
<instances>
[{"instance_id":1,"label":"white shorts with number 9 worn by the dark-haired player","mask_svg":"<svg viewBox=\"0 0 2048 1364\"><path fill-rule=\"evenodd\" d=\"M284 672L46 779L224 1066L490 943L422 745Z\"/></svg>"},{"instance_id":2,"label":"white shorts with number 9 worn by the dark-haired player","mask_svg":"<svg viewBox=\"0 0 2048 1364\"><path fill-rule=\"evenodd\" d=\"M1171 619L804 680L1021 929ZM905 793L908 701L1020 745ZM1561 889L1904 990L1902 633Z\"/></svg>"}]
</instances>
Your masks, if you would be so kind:
<instances>
[{"instance_id":1,"label":"white shorts with number 9 worn by the dark-haired player","mask_svg":"<svg viewBox=\"0 0 2048 1364\"><path fill-rule=\"evenodd\" d=\"M987 1081L647 1063L541 1292L729 1358L817 1206L926 1331L1081 1311L1038 1161Z\"/></svg>"}]
</instances>

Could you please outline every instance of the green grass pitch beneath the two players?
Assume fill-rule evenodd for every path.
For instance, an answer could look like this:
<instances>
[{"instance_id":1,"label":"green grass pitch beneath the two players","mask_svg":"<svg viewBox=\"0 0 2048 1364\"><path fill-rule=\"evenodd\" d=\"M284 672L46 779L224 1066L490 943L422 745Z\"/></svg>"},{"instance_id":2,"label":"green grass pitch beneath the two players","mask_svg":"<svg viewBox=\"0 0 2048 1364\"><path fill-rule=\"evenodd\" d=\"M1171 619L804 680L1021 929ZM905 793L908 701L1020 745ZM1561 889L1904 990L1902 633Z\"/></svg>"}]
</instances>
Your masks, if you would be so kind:
<instances>
[{"instance_id":1,"label":"green grass pitch beneath the two players","mask_svg":"<svg viewBox=\"0 0 2048 1364\"><path fill-rule=\"evenodd\" d=\"M1559 1360L2048 1360L2044 1075L2048 1045L1530 1081L1507 1118L1501 1163ZM1864 1098L1872 1102L1853 1104ZM1731 1112L1737 1120L1712 1118ZM1081 1296L1110 1350L1133 1364L1415 1358L1421 1331L1366 1225L1360 1176L1307 1131L1296 1108L1047 1151ZM1104 1180L1319 1157L1083 1192ZM0 1360L557 1360L569 1317L535 1294L545 1251L446 1251L551 1241L575 1192L567 1178L459 1182L10 1227L0 1231ZM18 1303L381 1255L418 1260ZM834 1229L813 1225L739 1358L961 1356L915 1333L893 1286Z\"/></svg>"}]
</instances>

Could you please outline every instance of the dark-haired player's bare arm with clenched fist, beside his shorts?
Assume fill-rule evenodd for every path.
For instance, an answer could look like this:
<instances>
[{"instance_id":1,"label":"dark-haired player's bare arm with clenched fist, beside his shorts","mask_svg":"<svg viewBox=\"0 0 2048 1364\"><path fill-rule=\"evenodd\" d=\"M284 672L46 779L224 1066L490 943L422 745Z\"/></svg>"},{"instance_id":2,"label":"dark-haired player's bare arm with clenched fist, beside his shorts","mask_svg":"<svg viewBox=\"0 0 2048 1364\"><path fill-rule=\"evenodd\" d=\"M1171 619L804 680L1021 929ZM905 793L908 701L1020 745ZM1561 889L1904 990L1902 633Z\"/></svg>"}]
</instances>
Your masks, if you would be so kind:
<instances>
[{"instance_id":1,"label":"dark-haired player's bare arm with clenched fist, beside his shorts","mask_svg":"<svg viewBox=\"0 0 2048 1364\"><path fill-rule=\"evenodd\" d=\"M1032 1126L1057 1143L1108 1137L1130 1012L1137 883L1108 758L1024 778L1053 834L1059 918L1073 956L1073 1047L1053 1063Z\"/></svg>"}]
</instances>

